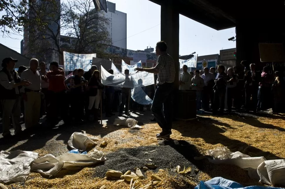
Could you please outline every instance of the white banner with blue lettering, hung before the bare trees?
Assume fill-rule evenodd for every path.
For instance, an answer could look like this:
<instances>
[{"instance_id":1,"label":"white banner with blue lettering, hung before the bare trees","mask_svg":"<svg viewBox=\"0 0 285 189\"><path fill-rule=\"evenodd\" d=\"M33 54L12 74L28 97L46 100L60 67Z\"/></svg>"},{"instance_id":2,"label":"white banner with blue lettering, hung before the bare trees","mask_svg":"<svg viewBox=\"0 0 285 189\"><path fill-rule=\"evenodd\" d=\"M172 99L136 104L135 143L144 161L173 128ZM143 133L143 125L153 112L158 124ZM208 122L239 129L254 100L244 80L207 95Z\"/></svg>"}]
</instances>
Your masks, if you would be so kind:
<instances>
[{"instance_id":1,"label":"white banner with blue lettering, hung before the bare trees","mask_svg":"<svg viewBox=\"0 0 285 189\"><path fill-rule=\"evenodd\" d=\"M82 68L84 71L88 71L91 68L93 57L96 57L96 54L74 54L63 51L63 69L73 71Z\"/></svg>"}]
</instances>

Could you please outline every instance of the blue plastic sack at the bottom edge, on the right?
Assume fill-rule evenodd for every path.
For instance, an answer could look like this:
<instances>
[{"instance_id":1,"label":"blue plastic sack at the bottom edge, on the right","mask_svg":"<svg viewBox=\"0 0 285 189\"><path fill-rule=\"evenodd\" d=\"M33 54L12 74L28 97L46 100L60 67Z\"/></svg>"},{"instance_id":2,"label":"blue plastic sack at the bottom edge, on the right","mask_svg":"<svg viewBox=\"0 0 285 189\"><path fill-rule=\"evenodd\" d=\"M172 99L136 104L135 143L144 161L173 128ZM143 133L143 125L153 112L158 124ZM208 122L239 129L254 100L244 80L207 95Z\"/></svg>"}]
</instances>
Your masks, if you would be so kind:
<instances>
[{"instance_id":1,"label":"blue plastic sack at the bottom edge, on the right","mask_svg":"<svg viewBox=\"0 0 285 189\"><path fill-rule=\"evenodd\" d=\"M200 181L200 184L195 187L195 189L282 189L282 188L275 188L275 187L264 187L264 186L247 186L244 187L243 185L224 179L222 177L215 177L209 181Z\"/></svg>"}]
</instances>

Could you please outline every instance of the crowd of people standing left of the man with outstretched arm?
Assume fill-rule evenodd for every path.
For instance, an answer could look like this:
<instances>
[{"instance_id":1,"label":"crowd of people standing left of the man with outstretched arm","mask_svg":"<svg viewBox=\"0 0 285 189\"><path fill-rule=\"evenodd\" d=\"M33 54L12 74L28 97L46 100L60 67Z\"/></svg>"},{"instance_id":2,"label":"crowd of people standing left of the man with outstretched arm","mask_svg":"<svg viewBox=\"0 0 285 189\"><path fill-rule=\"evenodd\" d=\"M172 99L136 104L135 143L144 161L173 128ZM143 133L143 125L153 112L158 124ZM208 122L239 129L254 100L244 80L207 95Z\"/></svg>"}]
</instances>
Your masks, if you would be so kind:
<instances>
[{"instance_id":1,"label":"crowd of people standing left of the man with outstretched arm","mask_svg":"<svg viewBox=\"0 0 285 189\"><path fill-rule=\"evenodd\" d=\"M144 111L142 105L129 98L131 88L103 86L95 65L87 72L75 69L66 78L58 62L51 62L48 71L45 62L31 59L30 67L19 66L18 72L14 69L16 62L17 59L8 57L1 64L3 137L11 136L11 123L14 134L21 133L21 115L25 128L29 129L36 126L43 115L46 115L50 125L56 125L61 120L82 124L98 120L101 113L111 117L115 115L114 112L119 112L121 116L125 110L128 115L129 107L136 111L139 106L140 111ZM109 73L113 74L113 70L110 69ZM125 75L128 78L129 70L125 70Z\"/></svg>"}]
</instances>

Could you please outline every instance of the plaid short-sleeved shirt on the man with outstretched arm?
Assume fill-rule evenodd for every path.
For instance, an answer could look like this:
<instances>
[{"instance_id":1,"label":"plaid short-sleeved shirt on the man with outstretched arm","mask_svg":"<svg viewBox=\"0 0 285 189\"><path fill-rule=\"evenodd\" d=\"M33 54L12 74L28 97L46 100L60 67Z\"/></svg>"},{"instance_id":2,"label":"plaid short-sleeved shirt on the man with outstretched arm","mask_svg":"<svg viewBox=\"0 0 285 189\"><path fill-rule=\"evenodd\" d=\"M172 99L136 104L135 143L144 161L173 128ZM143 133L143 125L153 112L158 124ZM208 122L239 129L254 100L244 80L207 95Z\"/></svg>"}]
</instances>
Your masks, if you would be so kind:
<instances>
[{"instance_id":1,"label":"plaid short-sleeved shirt on the man with outstretched arm","mask_svg":"<svg viewBox=\"0 0 285 189\"><path fill-rule=\"evenodd\" d=\"M155 69L158 71L157 84L173 83L175 80L174 60L170 55L159 55Z\"/></svg>"}]
</instances>

